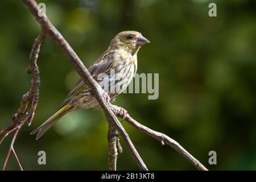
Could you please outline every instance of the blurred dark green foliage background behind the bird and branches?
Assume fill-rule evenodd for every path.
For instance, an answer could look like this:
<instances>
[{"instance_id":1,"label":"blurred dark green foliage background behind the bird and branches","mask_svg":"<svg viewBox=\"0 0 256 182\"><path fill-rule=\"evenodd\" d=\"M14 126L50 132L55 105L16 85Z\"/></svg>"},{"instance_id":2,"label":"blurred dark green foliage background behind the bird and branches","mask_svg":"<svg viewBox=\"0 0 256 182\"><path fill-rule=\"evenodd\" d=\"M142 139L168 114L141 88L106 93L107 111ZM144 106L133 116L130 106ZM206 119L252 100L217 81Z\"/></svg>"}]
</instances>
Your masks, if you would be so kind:
<instances>
[{"instance_id":1,"label":"blurred dark green foliage background behind the bird and branches","mask_svg":"<svg viewBox=\"0 0 256 182\"><path fill-rule=\"evenodd\" d=\"M39 2L39 1L38 1ZM212 170L256 169L256 1L80 0L40 1L46 13L89 67L115 34L137 30L150 40L138 54L138 73L159 73L159 98L122 94L115 104L151 129L177 140ZM208 16L210 2L217 17ZM21 1L0 6L0 127L10 123L30 87L26 68L40 27ZM79 76L49 38L42 44L40 99L32 126L24 126L15 150L26 170L108 169L108 125L101 110L65 115L35 140L30 132L64 100ZM149 169L195 168L169 146L122 122ZM2 166L11 136L0 146ZM139 169L125 143L118 169ZM47 164L38 165L38 151ZM217 152L217 165L208 152ZM11 155L7 169L18 170Z\"/></svg>"}]
</instances>

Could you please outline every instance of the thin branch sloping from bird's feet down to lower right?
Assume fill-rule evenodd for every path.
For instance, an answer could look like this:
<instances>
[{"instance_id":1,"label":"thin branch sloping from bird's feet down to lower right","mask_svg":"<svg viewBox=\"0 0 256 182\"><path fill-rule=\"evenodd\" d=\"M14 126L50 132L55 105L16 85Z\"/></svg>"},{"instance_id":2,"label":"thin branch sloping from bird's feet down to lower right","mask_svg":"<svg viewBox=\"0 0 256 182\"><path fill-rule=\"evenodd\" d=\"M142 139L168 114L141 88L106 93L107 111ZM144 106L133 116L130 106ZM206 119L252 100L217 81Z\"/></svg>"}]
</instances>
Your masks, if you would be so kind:
<instances>
[{"instance_id":1,"label":"thin branch sloping from bird's feet down to lower right","mask_svg":"<svg viewBox=\"0 0 256 182\"><path fill-rule=\"evenodd\" d=\"M121 107L118 107L115 105L110 105L110 107L112 108L112 110L118 117L122 118L123 110L121 109ZM185 159L188 160L188 162L190 162L197 169L199 169L201 171L208 171L208 169L206 167L204 167L203 164L201 164L199 162L199 160L194 158L191 154L189 154L189 152L187 150L185 150L185 148L183 148L174 139L168 137L166 134L160 133L158 131L154 131L154 130L148 128L147 126L142 125L141 123L135 121L135 119L131 118L129 114L126 115L126 118L124 120L127 123L129 123L131 126L135 127L136 129L142 131L143 133L146 133L147 135L150 135L150 137L153 137L153 138L159 140L159 142L161 142L161 144L168 144L169 146L174 148L177 152L179 152Z\"/></svg>"}]
</instances>

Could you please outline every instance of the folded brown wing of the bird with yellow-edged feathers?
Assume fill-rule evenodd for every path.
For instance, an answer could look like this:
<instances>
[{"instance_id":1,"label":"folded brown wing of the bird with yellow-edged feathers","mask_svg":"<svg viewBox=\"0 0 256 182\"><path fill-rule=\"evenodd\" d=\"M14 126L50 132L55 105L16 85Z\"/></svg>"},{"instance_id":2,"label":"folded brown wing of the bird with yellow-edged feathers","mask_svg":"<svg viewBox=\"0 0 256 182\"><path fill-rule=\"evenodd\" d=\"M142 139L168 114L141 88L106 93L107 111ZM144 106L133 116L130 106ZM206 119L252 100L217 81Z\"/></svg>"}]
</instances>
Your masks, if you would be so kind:
<instances>
[{"instance_id":1,"label":"folded brown wing of the bird with yellow-edged feathers","mask_svg":"<svg viewBox=\"0 0 256 182\"><path fill-rule=\"evenodd\" d=\"M105 51L100 58L90 66L88 69L90 75L94 78L94 80L97 81L97 77L100 73L107 73L110 71L110 69L113 68L113 65L115 63L114 59L114 51ZM75 86L71 89L71 91L68 93L68 96L64 100L64 102L58 107L57 110L59 110L62 106L67 104L71 98L74 96L77 96L82 92L82 90L86 89L86 85L84 81L80 78L79 81L76 82Z\"/></svg>"}]
</instances>

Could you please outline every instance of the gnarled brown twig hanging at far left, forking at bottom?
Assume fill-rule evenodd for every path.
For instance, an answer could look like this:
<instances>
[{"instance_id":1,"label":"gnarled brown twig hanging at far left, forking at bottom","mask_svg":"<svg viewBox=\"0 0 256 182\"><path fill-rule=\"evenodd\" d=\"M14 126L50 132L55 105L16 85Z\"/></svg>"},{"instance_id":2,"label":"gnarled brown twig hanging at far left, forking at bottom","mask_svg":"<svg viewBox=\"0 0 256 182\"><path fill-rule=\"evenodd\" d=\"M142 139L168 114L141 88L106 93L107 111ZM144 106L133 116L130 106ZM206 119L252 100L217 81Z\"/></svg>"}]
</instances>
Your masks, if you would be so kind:
<instances>
[{"instance_id":1,"label":"gnarled brown twig hanging at far left, forking at bottom","mask_svg":"<svg viewBox=\"0 0 256 182\"><path fill-rule=\"evenodd\" d=\"M36 64L36 61L38 59L38 53L40 51L40 45L45 37L44 32L41 32L41 34L38 36L38 38L35 39L35 42L32 46L32 50L30 53L30 64L27 68L27 73L31 74L31 88L30 90L23 95L22 101L20 103L20 107L16 114L13 115L12 121L10 125L7 125L3 130L0 131L0 137L3 136L1 139L0 144L3 142L3 140L7 137L8 134L15 131L14 137L11 140L11 144L9 147L9 151L7 152L7 156L5 159L5 163L3 164L3 170L5 170L7 162L9 160L10 154L13 151L15 158L19 164L19 167L21 170L23 170L18 156L16 155L16 152L14 150L14 142L16 140L16 137L19 133L19 130L24 126L24 124L27 122L28 125L31 124L34 115L35 115L35 109L38 104L38 98L39 98L39 85L40 85L40 77L39 77L39 68ZM30 110L29 110L30 109ZM29 111L28 111L29 110ZM29 112L26 116L27 111ZM24 117L26 118L24 119Z\"/></svg>"}]
</instances>

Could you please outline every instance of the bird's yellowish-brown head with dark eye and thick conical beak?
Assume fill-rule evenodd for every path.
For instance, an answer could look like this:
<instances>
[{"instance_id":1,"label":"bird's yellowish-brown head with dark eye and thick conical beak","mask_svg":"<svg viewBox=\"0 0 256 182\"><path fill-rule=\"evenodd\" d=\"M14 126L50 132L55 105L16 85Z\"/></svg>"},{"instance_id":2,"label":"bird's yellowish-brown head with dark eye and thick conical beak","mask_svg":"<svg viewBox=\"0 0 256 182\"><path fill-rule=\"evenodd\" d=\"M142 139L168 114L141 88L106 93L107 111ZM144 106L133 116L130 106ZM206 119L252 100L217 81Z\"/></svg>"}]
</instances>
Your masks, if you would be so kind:
<instances>
[{"instance_id":1,"label":"bird's yellowish-brown head with dark eye and thick conical beak","mask_svg":"<svg viewBox=\"0 0 256 182\"><path fill-rule=\"evenodd\" d=\"M123 31L115 35L110 42L110 48L125 49L126 51L137 52L139 47L150 43L137 31Z\"/></svg>"}]
</instances>

